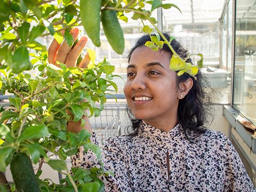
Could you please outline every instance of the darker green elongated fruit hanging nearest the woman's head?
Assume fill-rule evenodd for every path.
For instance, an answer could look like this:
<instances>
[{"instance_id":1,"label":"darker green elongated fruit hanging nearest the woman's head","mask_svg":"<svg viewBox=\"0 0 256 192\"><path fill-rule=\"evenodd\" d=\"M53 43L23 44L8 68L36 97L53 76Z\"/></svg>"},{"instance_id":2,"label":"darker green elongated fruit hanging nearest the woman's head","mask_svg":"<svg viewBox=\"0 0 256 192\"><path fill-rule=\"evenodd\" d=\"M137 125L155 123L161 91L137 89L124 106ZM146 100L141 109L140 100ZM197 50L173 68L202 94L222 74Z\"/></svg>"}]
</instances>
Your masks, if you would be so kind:
<instances>
[{"instance_id":1,"label":"darker green elongated fruit hanging nearest the woman's head","mask_svg":"<svg viewBox=\"0 0 256 192\"><path fill-rule=\"evenodd\" d=\"M118 22L116 11L109 9L102 11L101 23L111 47L118 54L122 54L124 50L124 37L123 30Z\"/></svg>"}]
</instances>

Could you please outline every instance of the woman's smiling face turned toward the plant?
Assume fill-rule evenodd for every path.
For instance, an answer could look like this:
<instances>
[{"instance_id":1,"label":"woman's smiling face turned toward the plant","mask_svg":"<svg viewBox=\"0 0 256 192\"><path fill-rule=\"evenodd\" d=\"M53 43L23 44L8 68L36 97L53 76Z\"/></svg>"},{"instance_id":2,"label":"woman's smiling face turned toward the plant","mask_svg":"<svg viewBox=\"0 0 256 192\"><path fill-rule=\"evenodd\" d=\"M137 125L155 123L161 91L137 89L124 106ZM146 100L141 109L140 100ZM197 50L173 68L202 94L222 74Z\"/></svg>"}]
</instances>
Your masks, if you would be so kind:
<instances>
[{"instance_id":1,"label":"woman's smiling face turned toward the plant","mask_svg":"<svg viewBox=\"0 0 256 192\"><path fill-rule=\"evenodd\" d=\"M127 67L127 103L137 119L157 128L163 123L178 123L177 75L169 70L169 62L168 52L143 46L134 50Z\"/></svg>"}]
</instances>

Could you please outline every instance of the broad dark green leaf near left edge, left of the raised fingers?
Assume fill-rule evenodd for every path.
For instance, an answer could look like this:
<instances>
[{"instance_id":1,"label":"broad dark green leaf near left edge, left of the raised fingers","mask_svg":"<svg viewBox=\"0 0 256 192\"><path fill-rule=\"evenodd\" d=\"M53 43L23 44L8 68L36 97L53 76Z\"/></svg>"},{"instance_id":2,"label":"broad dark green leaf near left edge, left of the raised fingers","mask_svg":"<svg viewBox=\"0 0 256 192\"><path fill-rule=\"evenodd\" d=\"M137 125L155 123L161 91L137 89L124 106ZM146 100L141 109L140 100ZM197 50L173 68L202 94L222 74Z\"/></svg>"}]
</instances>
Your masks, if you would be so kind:
<instances>
[{"instance_id":1,"label":"broad dark green leaf near left edge, left of the raised fingers","mask_svg":"<svg viewBox=\"0 0 256 192\"><path fill-rule=\"evenodd\" d=\"M20 73L27 70L28 67L32 65L29 61L29 52L26 46L21 46L16 49L12 56L12 62L10 63L10 68L13 73Z\"/></svg>"}]
</instances>

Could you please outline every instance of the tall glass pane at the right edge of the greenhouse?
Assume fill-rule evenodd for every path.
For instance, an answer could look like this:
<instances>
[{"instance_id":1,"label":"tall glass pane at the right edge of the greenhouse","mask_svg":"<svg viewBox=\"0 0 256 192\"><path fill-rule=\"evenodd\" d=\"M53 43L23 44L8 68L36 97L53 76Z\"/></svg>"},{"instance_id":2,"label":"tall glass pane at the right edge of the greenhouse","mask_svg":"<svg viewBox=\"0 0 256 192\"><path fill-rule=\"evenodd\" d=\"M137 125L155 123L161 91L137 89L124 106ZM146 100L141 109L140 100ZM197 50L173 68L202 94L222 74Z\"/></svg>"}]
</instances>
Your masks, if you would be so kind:
<instances>
[{"instance_id":1,"label":"tall glass pane at the right edge of the greenhouse","mask_svg":"<svg viewBox=\"0 0 256 192\"><path fill-rule=\"evenodd\" d=\"M238 0L233 107L256 124L256 1Z\"/></svg>"}]
</instances>

